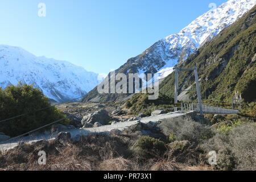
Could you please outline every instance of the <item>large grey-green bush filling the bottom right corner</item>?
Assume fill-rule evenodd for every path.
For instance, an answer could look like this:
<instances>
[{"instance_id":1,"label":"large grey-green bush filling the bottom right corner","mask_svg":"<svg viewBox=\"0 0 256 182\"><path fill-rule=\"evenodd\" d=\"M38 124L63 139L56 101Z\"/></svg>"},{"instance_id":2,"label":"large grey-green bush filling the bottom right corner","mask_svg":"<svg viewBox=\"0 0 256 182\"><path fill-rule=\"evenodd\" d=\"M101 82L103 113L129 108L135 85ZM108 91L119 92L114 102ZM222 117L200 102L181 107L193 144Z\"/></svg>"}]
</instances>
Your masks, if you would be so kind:
<instances>
[{"instance_id":1,"label":"large grey-green bush filling the bottom right corner","mask_svg":"<svg viewBox=\"0 0 256 182\"><path fill-rule=\"evenodd\" d=\"M222 170L256 170L256 125L246 123L228 133L217 133L202 147L205 152L217 151L217 167Z\"/></svg>"}]
</instances>

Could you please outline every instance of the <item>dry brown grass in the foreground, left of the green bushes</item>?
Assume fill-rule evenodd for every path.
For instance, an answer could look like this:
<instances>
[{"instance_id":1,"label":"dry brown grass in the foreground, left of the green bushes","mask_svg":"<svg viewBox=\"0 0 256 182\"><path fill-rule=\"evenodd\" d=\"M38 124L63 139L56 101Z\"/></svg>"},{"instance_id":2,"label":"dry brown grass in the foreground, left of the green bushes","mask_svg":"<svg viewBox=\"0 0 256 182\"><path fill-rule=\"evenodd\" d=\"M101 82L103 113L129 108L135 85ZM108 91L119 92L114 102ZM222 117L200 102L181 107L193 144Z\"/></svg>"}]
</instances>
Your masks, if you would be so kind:
<instances>
[{"instance_id":1,"label":"dry brown grass in the foreground, left of the green bushes","mask_svg":"<svg viewBox=\"0 0 256 182\"><path fill-rule=\"evenodd\" d=\"M200 163L177 162L176 155L155 156L144 159L130 151L137 135L91 135L80 142L39 142L20 144L0 152L0 170L56 170L56 171L176 171L208 170ZM38 164L38 151L47 154L46 165ZM197 157L197 156L196 156ZM191 156L192 158L192 156Z\"/></svg>"}]
</instances>

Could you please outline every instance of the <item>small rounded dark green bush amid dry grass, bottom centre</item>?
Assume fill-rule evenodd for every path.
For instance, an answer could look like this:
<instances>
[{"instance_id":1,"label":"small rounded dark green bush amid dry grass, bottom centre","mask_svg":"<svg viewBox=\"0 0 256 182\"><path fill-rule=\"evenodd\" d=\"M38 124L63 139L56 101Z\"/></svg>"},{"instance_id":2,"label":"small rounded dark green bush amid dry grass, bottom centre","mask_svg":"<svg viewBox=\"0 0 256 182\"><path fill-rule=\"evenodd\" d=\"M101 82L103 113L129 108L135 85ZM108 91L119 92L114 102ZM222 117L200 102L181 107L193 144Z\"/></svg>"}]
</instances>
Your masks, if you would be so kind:
<instances>
[{"instance_id":1,"label":"small rounded dark green bush amid dry grass, bottom centre","mask_svg":"<svg viewBox=\"0 0 256 182\"><path fill-rule=\"evenodd\" d=\"M167 150L166 144L160 141L159 139L155 139L149 136L142 136L135 143L134 151L136 154L140 156L144 156L146 158L151 156L162 155Z\"/></svg>"}]
</instances>

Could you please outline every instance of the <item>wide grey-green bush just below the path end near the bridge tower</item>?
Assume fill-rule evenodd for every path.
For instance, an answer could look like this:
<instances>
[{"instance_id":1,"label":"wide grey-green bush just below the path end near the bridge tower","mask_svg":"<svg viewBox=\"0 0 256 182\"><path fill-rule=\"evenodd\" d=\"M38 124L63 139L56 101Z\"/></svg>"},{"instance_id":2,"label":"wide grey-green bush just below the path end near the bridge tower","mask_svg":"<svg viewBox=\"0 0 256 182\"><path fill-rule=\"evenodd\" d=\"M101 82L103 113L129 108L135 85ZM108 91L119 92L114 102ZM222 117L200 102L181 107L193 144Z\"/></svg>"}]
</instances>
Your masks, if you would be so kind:
<instances>
[{"instance_id":1,"label":"wide grey-green bush just below the path end near the bridge tower","mask_svg":"<svg viewBox=\"0 0 256 182\"><path fill-rule=\"evenodd\" d=\"M200 142L214 135L210 127L201 125L190 117L164 119L159 126L164 135L169 137L170 142L174 140Z\"/></svg>"}]
</instances>

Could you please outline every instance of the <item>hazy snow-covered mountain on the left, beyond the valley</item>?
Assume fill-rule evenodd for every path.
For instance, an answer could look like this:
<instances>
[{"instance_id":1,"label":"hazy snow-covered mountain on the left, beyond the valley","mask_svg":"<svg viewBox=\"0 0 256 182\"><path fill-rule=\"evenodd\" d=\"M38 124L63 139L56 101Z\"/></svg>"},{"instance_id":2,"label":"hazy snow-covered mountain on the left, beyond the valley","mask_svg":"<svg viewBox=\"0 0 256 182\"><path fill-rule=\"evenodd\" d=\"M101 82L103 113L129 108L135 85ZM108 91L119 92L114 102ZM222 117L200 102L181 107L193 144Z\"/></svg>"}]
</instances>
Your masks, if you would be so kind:
<instances>
[{"instance_id":1,"label":"hazy snow-covered mountain on the left, beyond the valley","mask_svg":"<svg viewBox=\"0 0 256 182\"><path fill-rule=\"evenodd\" d=\"M22 81L34 84L48 98L62 102L85 96L101 80L98 74L68 61L36 57L22 48L0 45L2 88Z\"/></svg>"}]
</instances>

